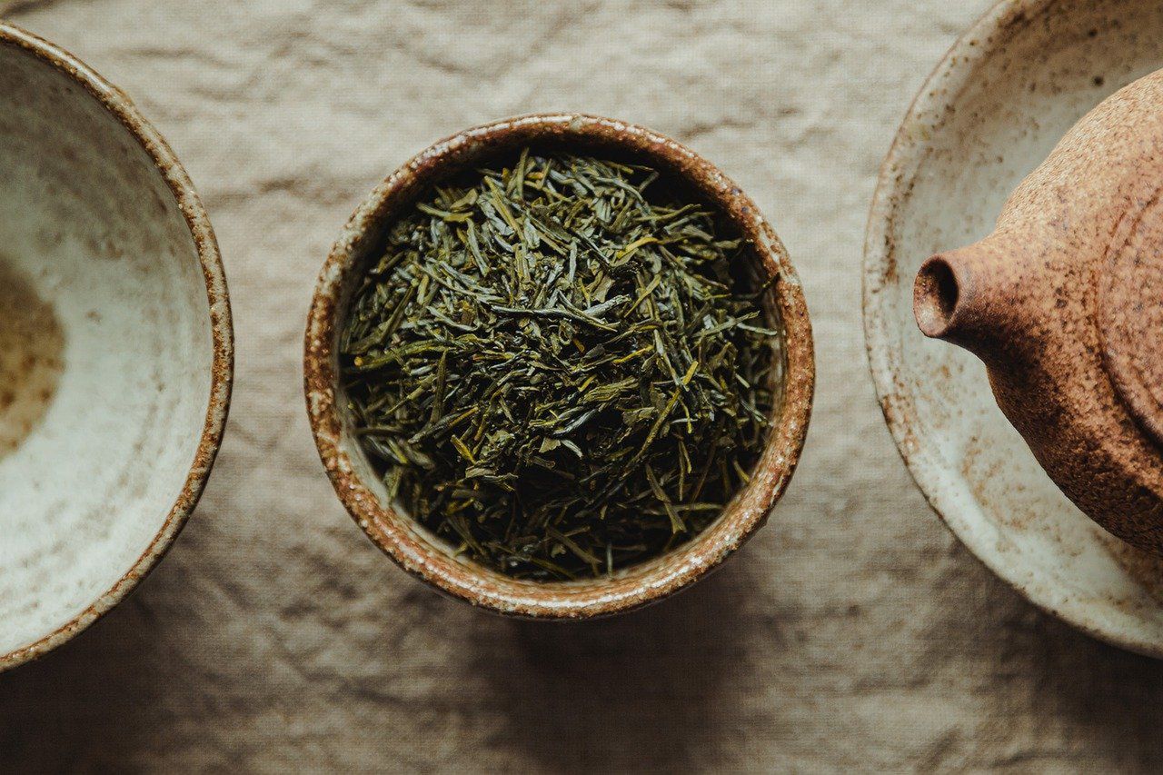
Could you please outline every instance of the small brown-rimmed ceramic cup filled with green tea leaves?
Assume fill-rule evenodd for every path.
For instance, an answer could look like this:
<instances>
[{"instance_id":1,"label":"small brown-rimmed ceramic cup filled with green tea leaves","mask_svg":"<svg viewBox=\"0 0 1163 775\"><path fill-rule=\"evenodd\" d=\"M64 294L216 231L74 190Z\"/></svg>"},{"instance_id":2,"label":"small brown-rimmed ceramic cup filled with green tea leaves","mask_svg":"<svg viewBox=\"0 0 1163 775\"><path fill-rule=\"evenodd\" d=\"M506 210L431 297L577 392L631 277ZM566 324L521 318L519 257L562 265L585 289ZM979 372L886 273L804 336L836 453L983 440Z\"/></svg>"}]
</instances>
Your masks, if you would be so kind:
<instances>
[{"instance_id":1,"label":"small brown-rimmed ceramic cup filled with green tea leaves","mask_svg":"<svg viewBox=\"0 0 1163 775\"><path fill-rule=\"evenodd\" d=\"M307 408L359 526L475 605L606 616L705 576L799 460L802 291L693 151L576 114L436 143L324 263Z\"/></svg>"}]
</instances>

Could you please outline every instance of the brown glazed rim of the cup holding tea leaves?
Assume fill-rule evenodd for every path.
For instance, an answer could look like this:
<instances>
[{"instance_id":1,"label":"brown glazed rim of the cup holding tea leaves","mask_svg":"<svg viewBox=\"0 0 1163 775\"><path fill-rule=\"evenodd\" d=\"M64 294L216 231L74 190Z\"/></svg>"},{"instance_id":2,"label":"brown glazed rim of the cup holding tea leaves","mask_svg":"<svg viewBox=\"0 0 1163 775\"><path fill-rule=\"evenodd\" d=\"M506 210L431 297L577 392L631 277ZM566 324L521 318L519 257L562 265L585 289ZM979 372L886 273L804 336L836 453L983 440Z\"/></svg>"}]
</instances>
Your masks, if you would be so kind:
<instances>
[{"instance_id":1,"label":"brown glazed rim of the cup holding tea leaves","mask_svg":"<svg viewBox=\"0 0 1163 775\"><path fill-rule=\"evenodd\" d=\"M358 275L361 250L377 239L394 211L445 175L526 144L602 148L664 169L719 206L754 247L764 276L777 276L775 303L786 329L783 414L751 483L722 518L685 546L609 578L578 582L516 581L457 560L448 548L393 509L380 506L343 449L336 403L337 318L344 290ZM709 162L643 127L579 114L505 119L466 129L431 145L372 191L327 257L307 320L304 385L319 454L348 511L371 540L413 576L472 605L527 618L585 619L654 603L706 576L766 520L800 457L815 384L812 328L802 289L787 253L755 204Z\"/></svg>"}]
</instances>

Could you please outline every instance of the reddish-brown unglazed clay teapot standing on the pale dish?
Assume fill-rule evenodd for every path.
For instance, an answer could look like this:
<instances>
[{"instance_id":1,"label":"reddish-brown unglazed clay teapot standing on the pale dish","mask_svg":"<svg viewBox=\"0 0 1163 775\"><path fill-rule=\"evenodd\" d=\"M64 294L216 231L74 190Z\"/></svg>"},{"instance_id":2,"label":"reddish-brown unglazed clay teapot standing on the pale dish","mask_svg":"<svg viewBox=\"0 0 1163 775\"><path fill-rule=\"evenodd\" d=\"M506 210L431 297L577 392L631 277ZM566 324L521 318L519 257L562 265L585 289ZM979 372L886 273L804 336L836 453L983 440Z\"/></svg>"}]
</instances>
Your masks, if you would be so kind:
<instances>
[{"instance_id":1,"label":"reddish-brown unglazed clay teapot standing on the pale dish","mask_svg":"<svg viewBox=\"0 0 1163 775\"><path fill-rule=\"evenodd\" d=\"M1163 71L1118 92L1018 187L985 240L930 257L921 330L986 365L1050 477L1163 554Z\"/></svg>"}]
</instances>

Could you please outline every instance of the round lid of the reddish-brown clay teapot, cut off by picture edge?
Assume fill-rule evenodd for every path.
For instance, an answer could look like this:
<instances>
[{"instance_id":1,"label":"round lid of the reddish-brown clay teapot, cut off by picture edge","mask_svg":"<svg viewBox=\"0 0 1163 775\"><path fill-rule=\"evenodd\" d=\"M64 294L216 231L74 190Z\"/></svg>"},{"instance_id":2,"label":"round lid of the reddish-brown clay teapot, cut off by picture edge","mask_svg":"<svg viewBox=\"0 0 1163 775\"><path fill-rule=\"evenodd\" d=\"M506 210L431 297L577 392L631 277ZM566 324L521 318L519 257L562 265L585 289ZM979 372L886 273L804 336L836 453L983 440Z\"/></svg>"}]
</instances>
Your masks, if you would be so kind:
<instances>
[{"instance_id":1,"label":"round lid of the reddish-brown clay teapot, cut off by picture edge","mask_svg":"<svg viewBox=\"0 0 1163 775\"><path fill-rule=\"evenodd\" d=\"M1097 290L1107 371L1130 413L1163 446L1161 194L1133 201L1115 228Z\"/></svg>"}]
</instances>

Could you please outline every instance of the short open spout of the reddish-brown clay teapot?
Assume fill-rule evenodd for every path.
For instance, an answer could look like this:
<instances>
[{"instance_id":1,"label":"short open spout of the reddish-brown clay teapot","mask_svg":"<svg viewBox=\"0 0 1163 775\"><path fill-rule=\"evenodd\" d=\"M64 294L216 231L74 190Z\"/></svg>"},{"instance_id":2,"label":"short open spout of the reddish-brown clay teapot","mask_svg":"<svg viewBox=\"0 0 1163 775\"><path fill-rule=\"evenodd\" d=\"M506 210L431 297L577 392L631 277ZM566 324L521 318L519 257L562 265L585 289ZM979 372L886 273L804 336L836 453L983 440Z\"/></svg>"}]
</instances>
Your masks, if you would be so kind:
<instances>
[{"instance_id":1,"label":"short open spout of the reddish-brown clay teapot","mask_svg":"<svg viewBox=\"0 0 1163 775\"><path fill-rule=\"evenodd\" d=\"M997 237L928 258L913 285L921 333L965 348L986 365L1020 344L1025 303L1020 256Z\"/></svg>"}]
</instances>

